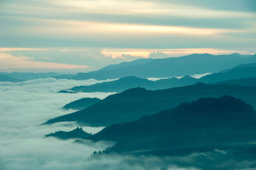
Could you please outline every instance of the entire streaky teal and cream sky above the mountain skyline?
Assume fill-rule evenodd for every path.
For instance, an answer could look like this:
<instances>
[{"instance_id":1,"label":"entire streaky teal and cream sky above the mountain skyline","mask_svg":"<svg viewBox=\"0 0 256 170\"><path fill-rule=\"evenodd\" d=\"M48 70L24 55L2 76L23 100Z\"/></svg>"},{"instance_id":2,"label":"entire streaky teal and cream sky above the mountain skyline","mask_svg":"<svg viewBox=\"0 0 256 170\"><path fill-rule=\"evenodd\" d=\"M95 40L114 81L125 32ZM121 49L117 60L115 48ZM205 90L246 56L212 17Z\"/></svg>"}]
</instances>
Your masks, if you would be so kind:
<instances>
[{"instance_id":1,"label":"entire streaky teal and cream sky above the mountain skyline","mask_svg":"<svg viewBox=\"0 0 256 170\"><path fill-rule=\"evenodd\" d=\"M90 72L139 58L254 54L254 0L0 0L0 72Z\"/></svg>"}]
</instances>

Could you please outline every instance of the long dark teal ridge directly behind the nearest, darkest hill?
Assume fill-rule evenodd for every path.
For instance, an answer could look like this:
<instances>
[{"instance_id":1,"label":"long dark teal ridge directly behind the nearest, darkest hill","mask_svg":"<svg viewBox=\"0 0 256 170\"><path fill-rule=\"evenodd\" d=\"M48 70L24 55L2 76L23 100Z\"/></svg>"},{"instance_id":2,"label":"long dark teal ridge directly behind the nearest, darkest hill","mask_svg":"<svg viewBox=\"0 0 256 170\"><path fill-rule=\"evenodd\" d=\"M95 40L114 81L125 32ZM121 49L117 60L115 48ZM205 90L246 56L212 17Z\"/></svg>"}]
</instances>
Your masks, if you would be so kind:
<instances>
[{"instance_id":1,"label":"long dark teal ridge directly behind the nearest, darkest hill","mask_svg":"<svg viewBox=\"0 0 256 170\"><path fill-rule=\"evenodd\" d=\"M66 114L46 121L77 121L90 126L108 126L113 123L138 120L141 116L154 114L176 107L181 102L192 102L202 97L230 95L256 106L256 88L230 84L197 83L179 88L147 90L128 89L104 98L104 100L81 111Z\"/></svg>"}]
</instances>

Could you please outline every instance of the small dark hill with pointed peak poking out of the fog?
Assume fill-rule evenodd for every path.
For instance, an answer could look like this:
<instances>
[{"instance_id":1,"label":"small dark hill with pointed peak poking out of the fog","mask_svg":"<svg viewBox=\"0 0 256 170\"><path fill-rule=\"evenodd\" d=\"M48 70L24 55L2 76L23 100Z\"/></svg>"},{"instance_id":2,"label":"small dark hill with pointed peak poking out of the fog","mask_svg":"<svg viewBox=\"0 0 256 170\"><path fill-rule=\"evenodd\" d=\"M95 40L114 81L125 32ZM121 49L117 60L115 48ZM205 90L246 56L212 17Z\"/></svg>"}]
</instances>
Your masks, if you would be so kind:
<instances>
[{"instance_id":1,"label":"small dark hill with pointed peak poking out of the fog","mask_svg":"<svg viewBox=\"0 0 256 170\"><path fill-rule=\"evenodd\" d=\"M86 139L90 137L92 134L88 134L83 131L82 128L77 127L76 129L70 131L70 132L64 132L64 131L58 131L55 133L47 134L45 137L56 137L58 139L72 139L72 138L81 138L81 139Z\"/></svg>"}]
</instances>

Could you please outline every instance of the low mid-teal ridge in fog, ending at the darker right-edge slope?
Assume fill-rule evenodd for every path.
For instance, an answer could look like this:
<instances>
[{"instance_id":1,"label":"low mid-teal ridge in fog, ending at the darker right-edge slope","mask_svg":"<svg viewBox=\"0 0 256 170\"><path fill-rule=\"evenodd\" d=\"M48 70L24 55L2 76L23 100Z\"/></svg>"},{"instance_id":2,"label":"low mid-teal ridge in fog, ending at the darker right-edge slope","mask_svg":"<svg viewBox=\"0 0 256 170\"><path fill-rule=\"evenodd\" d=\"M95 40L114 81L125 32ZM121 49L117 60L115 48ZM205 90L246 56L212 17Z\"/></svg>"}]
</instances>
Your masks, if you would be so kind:
<instances>
[{"instance_id":1,"label":"low mid-teal ridge in fog, ending at the darker right-edge slope","mask_svg":"<svg viewBox=\"0 0 256 170\"><path fill-rule=\"evenodd\" d=\"M175 77L170 79L160 79L158 81L149 81L148 79L143 79L139 77L129 76L123 77L115 81L100 82L97 84L92 84L89 86L76 86L74 88L68 89L68 91L73 92L121 92L125 89L131 88L146 88L146 89L166 89L173 88L176 86L186 86L195 84L198 79L185 76L181 79ZM61 93L61 91L59 91Z\"/></svg>"}]
</instances>

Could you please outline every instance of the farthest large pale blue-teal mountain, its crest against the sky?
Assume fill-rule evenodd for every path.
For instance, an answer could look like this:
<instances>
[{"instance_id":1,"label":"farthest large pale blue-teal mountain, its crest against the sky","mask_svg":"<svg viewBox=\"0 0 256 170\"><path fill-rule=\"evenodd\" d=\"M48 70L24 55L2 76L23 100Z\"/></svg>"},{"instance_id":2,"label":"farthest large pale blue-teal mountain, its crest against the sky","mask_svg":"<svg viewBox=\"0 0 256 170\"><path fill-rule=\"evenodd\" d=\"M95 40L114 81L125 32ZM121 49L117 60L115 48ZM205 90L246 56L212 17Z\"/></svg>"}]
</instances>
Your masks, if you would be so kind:
<instances>
[{"instance_id":1,"label":"farthest large pale blue-teal mountain, its crest against the sky","mask_svg":"<svg viewBox=\"0 0 256 170\"><path fill-rule=\"evenodd\" d=\"M118 65L109 65L100 70L77 73L72 79L116 79L120 77L179 77L200 73L220 72L236 65L256 63L254 55L211 55L191 54L179 58L139 59L132 62L123 62Z\"/></svg>"}]
</instances>

